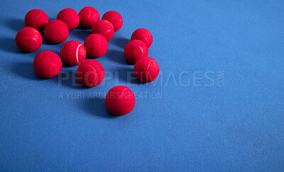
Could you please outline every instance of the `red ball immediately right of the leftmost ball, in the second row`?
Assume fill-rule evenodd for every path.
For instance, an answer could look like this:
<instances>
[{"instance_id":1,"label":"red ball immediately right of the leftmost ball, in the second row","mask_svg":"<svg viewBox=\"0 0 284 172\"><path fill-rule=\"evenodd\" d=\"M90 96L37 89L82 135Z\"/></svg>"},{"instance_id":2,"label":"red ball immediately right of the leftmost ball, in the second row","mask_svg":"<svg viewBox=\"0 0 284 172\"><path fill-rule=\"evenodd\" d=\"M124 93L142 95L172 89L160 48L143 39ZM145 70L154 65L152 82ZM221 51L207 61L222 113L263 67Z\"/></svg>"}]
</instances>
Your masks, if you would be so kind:
<instances>
[{"instance_id":1,"label":"red ball immediately right of the leftmost ball, in the second row","mask_svg":"<svg viewBox=\"0 0 284 172\"><path fill-rule=\"evenodd\" d=\"M49 42L59 44L68 38L69 28L63 21L54 20L45 25L44 34Z\"/></svg>"}]
</instances>

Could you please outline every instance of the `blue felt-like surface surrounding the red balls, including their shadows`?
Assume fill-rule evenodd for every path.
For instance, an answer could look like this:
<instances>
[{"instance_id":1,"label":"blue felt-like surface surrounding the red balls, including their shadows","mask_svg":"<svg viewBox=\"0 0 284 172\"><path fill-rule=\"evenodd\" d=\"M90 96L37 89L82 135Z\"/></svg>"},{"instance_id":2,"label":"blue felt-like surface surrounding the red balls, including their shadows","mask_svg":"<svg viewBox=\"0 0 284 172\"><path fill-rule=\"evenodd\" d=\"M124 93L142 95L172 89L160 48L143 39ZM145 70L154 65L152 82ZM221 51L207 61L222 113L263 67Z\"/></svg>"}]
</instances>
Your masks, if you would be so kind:
<instances>
[{"instance_id":1,"label":"blue felt-like surface surrounding the red balls, including their shadows","mask_svg":"<svg viewBox=\"0 0 284 172\"><path fill-rule=\"evenodd\" d=\"M63 43L43 38L36 52L18 50L24 16L40 8L53 20L62 8L84 6L124 18L97 59L106 79L75 86L77 67L65 66L40 79L33 58L59 54ZM284 171L284 1L4 0L0 7L0 171ZM153 34L156 84L127 75L133 65L124 46L137 28ZM90 33L72 30L67 40ZM116 85L136 93L122 117L104 105Z\"/></svg>"}]
</instances>

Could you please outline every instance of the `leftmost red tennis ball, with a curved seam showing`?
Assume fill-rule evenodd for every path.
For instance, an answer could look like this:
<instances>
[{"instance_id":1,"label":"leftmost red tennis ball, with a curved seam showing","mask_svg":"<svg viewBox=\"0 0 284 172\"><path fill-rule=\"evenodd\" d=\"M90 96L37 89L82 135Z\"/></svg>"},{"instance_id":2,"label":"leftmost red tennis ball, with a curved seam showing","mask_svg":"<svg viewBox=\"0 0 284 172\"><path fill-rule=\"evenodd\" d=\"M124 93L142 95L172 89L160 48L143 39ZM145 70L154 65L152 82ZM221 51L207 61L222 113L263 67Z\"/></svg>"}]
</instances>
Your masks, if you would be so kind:
<instances>
[{"instance_id":1,"label":"leftmost red tennis ball, with a curved seam showing","mask_svg":"<svg viewBox=\"0 0 284 172\"><path fill-rule=\"evenodd\" d=\"M18 31L16 45L23 52L34 52L43 43L43 37L35 28L26 27Z\"/></svg>"}]
</instances>

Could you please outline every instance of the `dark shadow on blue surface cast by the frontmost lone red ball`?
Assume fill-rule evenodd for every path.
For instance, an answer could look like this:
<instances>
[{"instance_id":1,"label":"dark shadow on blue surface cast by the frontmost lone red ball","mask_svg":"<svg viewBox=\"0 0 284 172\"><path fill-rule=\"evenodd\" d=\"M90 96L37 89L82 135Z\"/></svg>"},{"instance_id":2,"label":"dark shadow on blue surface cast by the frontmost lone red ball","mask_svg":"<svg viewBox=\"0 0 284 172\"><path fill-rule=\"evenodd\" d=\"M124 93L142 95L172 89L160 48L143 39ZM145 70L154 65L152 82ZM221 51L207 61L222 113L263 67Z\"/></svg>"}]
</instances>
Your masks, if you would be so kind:
<instances>
[{"instance_id":1,"label":"dark shadow on blue surface cast by the frontmost lone red ball","mask_svg":"<svg viewBox=\"0 0 284 172\"><path fill-rule=\"evenodd\" d=\"M81 108L88 115L97 115L99 117L114 118L115 115L109 113L105 104L105 98L94 96L92 98L80 100Z\"/></svg>"}]
</instances>

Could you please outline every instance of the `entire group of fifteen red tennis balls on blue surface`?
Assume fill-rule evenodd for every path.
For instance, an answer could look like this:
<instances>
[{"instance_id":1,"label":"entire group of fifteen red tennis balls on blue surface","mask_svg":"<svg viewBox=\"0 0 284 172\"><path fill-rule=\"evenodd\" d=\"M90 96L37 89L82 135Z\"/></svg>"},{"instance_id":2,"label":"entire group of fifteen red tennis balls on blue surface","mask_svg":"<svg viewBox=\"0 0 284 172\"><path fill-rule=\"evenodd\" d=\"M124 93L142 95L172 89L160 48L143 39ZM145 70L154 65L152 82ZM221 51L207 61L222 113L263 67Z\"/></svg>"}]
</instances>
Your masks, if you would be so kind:
<instances>
[{"instance_id":1,"label":"entire group of fifteen red tennis balls on blue surface","mask_svg":"<svg viewBox=\"0 0 284 172\"><path fill-rule=\"evenodd\" d=\"M43 42L40 34L43 31L49 42L64 42L69 31L77 28L79 23L84 28L92 28L92 34L84 40L84 45L76 40L65 42L61 47L60 57L69 66L79 65L77 79L83 86L97 86L104 79L104 67L97 60L85 58L87 55L97 58L106 54L108 41L123 24L123 18L118 12L108 11L99 20L99 12L92 6L82 8L79 14L72 8L65 8L58 13L57 20L49 21L44 11L33 9L25 17L27 27L19 30L16 35L16 45L23 52L38 50ZM135 64L133 71L136 78L143 83L155 80L160 71L155 59L148 57L148 47L152 42L152 34L140 28L133 32L131 41L124 49L126 59ZM51 51L39 52L33 60L35 73L44 79L57 76L62 68L60 57ZM135 96L126 86L115 86L107 93L106 105L114 115L126 115L134 108Z\"/></svg>"}]
</instances>

